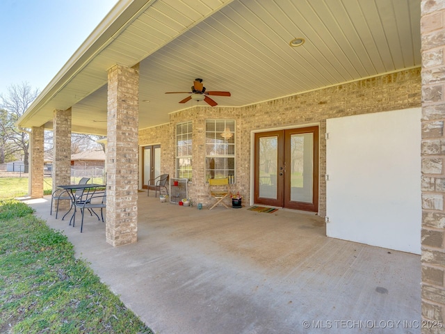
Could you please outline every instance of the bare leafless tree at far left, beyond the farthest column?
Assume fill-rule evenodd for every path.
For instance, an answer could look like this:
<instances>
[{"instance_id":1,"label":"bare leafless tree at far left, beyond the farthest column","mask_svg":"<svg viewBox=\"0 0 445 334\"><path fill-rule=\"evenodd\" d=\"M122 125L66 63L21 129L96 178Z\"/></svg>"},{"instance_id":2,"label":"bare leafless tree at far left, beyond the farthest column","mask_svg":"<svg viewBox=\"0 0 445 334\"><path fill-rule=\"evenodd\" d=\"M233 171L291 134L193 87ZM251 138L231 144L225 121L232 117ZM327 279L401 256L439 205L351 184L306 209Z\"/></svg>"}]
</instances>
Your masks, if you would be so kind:
<instances>
[{"instance_id":1,"label":"bare leafless tree at far left, beyond the farthest column","mask_svg":"<svg viewBox=\"0 0 445 334\"><path fill-rule=\"evenodd\" d=\"M15 127L17 120L38 96L39 90L31 88L27 82L11 85L6 95L0 94L0 108L6 111L0 123L0 136L10 145L12 154L23 154L25 171L29 165L29 136Z\"/></svg>"}]
</instances>

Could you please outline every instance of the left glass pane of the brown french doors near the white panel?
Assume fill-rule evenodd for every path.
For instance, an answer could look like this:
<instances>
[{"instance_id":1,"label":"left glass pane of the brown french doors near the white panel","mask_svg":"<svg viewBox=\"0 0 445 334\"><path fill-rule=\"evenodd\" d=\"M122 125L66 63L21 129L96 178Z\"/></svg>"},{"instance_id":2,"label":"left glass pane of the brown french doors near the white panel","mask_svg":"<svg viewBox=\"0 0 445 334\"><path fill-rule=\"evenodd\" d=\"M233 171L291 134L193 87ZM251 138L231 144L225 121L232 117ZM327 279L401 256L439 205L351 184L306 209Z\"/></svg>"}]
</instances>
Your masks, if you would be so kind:
<instances>
[{"instance_id":1,"label":"left glass pane of the brown french doors near the white panel","mask_svg":"<svg viewBox=\"0 0 445 334\"><path fill-rule=\"evenodd\" d=\"M259 197L277 199L278 137L259 138Z\"/></svg>"}]
</instances>

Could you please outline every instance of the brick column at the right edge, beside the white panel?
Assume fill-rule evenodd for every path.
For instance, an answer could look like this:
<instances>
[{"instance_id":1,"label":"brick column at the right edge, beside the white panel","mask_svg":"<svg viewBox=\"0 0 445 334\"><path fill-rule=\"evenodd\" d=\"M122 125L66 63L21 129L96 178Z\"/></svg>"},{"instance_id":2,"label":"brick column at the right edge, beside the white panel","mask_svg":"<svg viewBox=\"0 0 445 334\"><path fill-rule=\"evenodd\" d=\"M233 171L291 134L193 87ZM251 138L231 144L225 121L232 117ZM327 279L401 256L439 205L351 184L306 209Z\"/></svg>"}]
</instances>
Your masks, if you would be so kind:
<instances>
[{"instance_id":1,"label":"brick column at the right edge, beside the white panel","mask_svg":"<svg viewBox=\"0 0 445 334\"><path fill-rule=\"evenodd\" d=\"M445 320L445 1L421 1L422 319ZM428 322L427 322L428 324ZM432 323L433 324L433 323ZM445 326L441 322L442 326ZM444 333L422 328L421 333Z\"/></svg>"}]
</instances>

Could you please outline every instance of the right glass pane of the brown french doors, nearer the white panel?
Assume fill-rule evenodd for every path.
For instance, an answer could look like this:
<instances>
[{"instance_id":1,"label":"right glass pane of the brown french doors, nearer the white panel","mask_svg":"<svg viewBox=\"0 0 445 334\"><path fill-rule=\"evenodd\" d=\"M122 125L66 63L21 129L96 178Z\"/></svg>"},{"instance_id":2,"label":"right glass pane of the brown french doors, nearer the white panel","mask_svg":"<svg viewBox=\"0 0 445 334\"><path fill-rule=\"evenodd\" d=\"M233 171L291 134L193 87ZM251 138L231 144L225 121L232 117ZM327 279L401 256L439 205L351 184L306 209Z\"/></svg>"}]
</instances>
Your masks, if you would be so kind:
<instances>
[{"instance_id":1,"label":"right glass pane of the brown french doors, nearer the white panel","mask_svg":"<svg viewBox=\"0 0 445 334\"><path fill-rule=\"evenodd\" d=\"M312 203L314 196L314 134L291 135L291 157L288 160L291 200Z\"/></svg>"}]
</instances>

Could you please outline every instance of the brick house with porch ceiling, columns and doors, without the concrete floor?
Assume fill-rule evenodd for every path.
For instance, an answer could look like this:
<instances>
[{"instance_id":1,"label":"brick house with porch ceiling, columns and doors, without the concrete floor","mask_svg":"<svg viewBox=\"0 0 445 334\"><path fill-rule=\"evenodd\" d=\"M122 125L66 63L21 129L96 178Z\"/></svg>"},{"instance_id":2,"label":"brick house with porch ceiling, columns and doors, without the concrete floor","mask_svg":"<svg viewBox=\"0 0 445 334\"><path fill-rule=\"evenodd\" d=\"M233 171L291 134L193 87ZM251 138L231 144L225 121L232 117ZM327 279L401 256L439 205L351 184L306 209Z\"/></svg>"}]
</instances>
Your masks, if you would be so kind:
<instances>
[{"instance_id":1,"label":"brick house with porch ceiling, columns and doors, without the concrete floor","mask_svg":"<svg viewBox=\"0 0 445 334\"><path fill-rule=\"evenodd\" d=\"M442 319L444 6L118 1L17 122L42 161L31 196L44 129L54 184L70 132L107 136L113 246L137 241L147 180L186 178L209 204L209 177L230 177L248 205L326 217L330 237L423 252L423 317Z\"/></svg>"}]
</instances>

